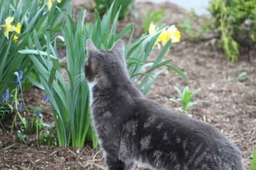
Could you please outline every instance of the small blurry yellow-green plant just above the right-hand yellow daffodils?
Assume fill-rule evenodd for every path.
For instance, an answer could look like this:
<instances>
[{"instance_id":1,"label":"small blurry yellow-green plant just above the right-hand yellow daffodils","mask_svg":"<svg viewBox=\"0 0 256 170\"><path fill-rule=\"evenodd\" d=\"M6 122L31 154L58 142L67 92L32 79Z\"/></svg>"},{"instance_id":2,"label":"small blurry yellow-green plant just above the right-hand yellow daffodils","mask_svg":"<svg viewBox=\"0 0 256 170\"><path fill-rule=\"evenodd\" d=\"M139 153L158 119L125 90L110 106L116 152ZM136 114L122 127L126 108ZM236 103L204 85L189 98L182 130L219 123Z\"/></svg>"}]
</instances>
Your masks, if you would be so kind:
<instances>
[{"instance_id":1,"label":"small blurry yellow-green plant just above the right-hand yellow daffodils","mask_svg":"<svg viewBox=\"0 0 256 170\"><path fill-rule=\"evenodd\" d=\"M146 15L143 17L143 29L144 32L148 32L149 25L151 23L159 23L159 20L161 19L163 13L164 13L164 8L161 8L161 10L154 12L153 10L148 10Z\"/></svg>"}]
</instances>

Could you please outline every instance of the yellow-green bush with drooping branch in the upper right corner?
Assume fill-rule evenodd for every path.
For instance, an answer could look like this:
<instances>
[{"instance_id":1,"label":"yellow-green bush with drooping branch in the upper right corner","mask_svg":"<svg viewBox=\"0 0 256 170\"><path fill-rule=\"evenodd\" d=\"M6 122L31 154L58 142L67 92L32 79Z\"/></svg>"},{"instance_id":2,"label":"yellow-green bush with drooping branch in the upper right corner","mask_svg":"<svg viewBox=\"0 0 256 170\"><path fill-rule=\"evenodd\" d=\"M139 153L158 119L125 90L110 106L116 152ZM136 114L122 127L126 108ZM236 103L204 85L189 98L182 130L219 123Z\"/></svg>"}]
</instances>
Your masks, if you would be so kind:
<instances>
[{"instance_id":1,"label":"yellow-green bush with drooping branch in the upper right corner","mask_svg":"<svg viewBox=\"0 0 256 170\"><path fill-rule=\"evenodd\" d=\"M221 47L228 60L238 59L240 45L255 45L255 0L211 0L209 11L221 32Z\"/></svg>"}]
</instances>

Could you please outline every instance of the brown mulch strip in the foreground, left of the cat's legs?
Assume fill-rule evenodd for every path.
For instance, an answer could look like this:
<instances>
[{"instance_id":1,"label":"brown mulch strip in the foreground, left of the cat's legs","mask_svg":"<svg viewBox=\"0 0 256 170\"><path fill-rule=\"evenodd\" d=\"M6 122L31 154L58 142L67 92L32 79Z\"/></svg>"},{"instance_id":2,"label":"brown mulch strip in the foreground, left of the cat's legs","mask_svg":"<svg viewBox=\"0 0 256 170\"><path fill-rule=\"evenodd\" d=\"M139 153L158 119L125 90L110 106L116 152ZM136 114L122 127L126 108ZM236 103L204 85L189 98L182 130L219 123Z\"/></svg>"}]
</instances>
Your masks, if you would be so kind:
<instances>
[{"instance_id":1,"label":"brown mulch strip in the foreground, left of the cat's legs","mask_svg":"<svg viewBox=\"0 0 256 170\"><path fill-rule=\"evenodd\" d=\"M100 169L103 164L100 150L90 145L82 150L35 147L19 143L10 134L5 134L1 140L7 143L0 149L0 169Z\"/></svg>"}]
</instances>

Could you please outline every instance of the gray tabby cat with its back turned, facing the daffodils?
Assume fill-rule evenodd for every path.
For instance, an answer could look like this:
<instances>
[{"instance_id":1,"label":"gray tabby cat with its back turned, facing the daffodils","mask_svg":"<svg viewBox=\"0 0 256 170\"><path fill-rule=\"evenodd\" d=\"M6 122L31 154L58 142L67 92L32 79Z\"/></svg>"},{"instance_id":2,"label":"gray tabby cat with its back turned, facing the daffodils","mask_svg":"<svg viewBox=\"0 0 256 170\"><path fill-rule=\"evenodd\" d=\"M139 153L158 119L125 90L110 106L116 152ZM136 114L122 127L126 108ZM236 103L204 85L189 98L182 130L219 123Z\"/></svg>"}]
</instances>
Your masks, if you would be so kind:
<instances>
[{"instance_id":1,"label":"gray tabby cat with its back turned, facing the daffodils","mask_svg":"<svg viewBox=\"0 0 256 170\"><path fill-rule=\"evenodd\" d=\"M218 129L146 99L127 74L124 43L108 51L87 41L84 73L93 124L108 169L243 169L241 152Z\"/></svg>"}]
</instances>

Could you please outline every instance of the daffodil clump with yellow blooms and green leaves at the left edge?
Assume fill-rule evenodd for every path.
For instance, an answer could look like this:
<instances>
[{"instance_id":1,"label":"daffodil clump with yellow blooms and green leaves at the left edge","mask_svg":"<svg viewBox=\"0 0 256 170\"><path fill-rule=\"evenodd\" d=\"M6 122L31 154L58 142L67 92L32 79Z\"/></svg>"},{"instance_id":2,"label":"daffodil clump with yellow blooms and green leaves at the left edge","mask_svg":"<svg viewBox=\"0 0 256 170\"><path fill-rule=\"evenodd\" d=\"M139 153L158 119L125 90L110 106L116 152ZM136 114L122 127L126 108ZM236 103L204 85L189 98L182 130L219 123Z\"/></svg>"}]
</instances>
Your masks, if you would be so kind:
<instances>
[{"instance_id":1,"label":"daffodil clump with yellow blooms and green leaves at the left edge","mask_svg":"<svg viewBox=\"0 0 256 170\"><path fill-rule=\"evenodd\" d=\"M45 31L49 31L51 37L59 32L63 24L61 9L66 8L67 3L67 0L58 6L53 3L49 11L47 1L0 1L0 110L12 111L8 98L17 88L14 73L22 71L25 81L33 68L29 57L18 53L18 50L26 48L33 41L34 32L38 34L39 41ZM42 48L45 49L45 44L42 44Z\"/></svg>"}]
</instances>

